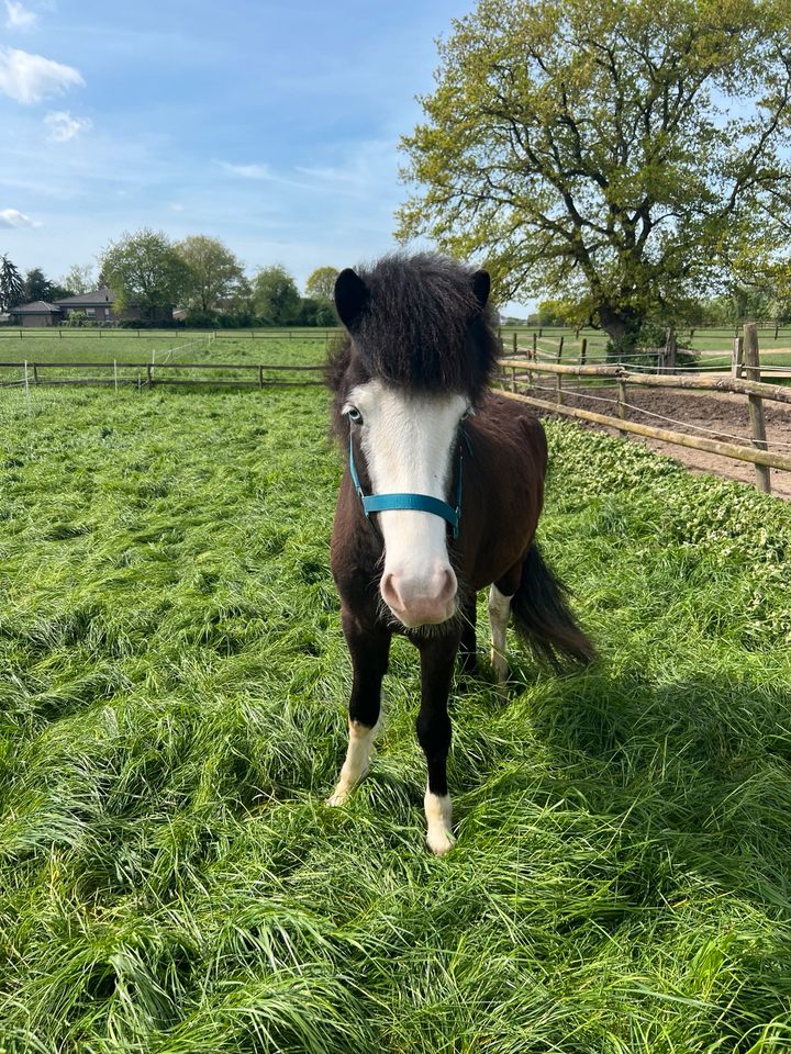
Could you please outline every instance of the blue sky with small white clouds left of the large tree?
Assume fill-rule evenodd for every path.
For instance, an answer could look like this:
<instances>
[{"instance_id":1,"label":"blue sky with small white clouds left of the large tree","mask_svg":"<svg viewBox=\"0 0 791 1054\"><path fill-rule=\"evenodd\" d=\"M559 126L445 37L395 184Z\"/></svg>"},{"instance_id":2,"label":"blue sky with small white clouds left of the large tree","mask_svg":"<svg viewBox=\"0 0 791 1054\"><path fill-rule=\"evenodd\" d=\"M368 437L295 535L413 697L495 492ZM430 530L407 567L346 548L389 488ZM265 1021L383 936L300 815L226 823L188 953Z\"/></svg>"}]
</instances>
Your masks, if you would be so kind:
<instances>
[{"instance_id":1,"label":"blue sky with small white clouds left of the large tree","mask_svg":"<svg viewBox=\"0 0 791 1054\"><path fill-rule=\"evenodd\" d=\"M124 231L302 285L393 247L397 145L474 0L0 0L0 254L51 278Z\"/></svg>"}]
</instances>

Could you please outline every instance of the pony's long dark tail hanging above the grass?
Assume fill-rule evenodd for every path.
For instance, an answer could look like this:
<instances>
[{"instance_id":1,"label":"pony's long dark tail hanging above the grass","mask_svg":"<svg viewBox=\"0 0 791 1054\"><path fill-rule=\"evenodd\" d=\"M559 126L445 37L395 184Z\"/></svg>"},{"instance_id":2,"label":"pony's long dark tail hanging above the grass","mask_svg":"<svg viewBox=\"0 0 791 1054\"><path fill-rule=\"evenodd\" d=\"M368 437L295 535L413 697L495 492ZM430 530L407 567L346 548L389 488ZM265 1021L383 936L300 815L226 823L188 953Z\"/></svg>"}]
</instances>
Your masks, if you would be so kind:
<instances>
[{"instance_id":1,"label":"pony's long dark tail hanging above the grass","mask_svg":"<svg viewBox=\"0 0 791 1054\"><path fill-rule=\"evenodd\" d=\"M568 590L544 562L533 542L522 564L522 581L511 598L511 614L519 637L556 670L564 660L587 666L597 651L577 624L567 603Z\"/></svg>"}]
</instances>

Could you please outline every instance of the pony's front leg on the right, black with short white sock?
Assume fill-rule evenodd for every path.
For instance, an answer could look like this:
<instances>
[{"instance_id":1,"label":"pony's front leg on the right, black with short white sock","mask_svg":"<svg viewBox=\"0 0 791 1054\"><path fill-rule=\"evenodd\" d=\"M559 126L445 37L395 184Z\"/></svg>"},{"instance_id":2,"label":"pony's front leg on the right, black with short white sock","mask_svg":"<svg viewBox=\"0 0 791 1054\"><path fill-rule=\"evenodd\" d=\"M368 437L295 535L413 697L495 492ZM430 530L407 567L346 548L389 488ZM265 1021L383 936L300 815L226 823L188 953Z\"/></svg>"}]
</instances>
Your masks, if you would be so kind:
<instances>
[{"instance_id":1,"label":"pony's front leg on the right, black with short white sock","mask_svg":"<svg viewBox=\"0 0 791 1054\"><path fill-rule=\"evenodd\" d=\"M437 856L454 843L453 807L447 787L447 754L450 749L450 718L447 700L450 693L458 637L428 637L415 641L421 653L421 708L417 715L417 740L423 748L428 770L424 798L426 841Z\"/></svg>"}]
</instances>

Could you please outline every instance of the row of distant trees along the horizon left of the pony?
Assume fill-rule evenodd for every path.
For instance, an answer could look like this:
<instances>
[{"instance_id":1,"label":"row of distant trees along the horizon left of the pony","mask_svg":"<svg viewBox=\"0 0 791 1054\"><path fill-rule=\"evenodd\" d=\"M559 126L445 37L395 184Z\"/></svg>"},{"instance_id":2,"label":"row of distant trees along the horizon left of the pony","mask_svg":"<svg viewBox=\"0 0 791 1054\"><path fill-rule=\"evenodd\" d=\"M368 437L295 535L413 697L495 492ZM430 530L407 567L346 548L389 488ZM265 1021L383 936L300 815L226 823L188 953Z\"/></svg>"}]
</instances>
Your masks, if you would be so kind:
<instances>
[{"instance_id":1,"label":"row of distant trees along the horizon left of the pony","mask_svg":"<svg viewBox=\"0 0 791 1054\"><path fill-rule=\"evenodd\" d=\"M109 287L114 307L134 306L143 319L159 321L185 309L188 326L334 326L333 287L337 270L316 268L300 293L281 265L259 268L252 278L218 238L198 234L180 242L161 231L123 234L100 254L98 267L75 265L57 281L41 268L22 276L0 258L0 312L43 300L52 302Z\"/></svg>"}]
</instances>

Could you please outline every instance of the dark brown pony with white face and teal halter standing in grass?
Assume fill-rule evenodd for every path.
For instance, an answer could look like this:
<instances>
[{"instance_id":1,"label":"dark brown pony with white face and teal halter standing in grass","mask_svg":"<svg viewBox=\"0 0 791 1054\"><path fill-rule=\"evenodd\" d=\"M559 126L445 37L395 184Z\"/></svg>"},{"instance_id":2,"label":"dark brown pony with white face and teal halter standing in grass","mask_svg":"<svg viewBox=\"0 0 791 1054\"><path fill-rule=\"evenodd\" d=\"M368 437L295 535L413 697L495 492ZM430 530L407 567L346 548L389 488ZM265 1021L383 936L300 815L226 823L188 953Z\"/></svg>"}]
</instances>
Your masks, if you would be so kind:
<instances>
[{"instance_id":1,"label":"dark brown pony with white face and teal halter standing in grass","mask_svg":"<svg viewBox=\"0 0 791 1054\"><path fill-rule=\"evenodd\" d=\"M393 633L420 653L417 740L426 840L454 843L446 762L458 653L475 673L476 597L489 590L491 663L508 676L505 629L559 668L594 657L535 541L544 429L491 391L500 343L490 278L434 254L386 256L335 282L344 332L331 352L332 427L346 452L331 569L352 658L342 805L368 770Z\"/></svg>"}]
</instances>

